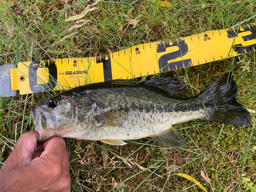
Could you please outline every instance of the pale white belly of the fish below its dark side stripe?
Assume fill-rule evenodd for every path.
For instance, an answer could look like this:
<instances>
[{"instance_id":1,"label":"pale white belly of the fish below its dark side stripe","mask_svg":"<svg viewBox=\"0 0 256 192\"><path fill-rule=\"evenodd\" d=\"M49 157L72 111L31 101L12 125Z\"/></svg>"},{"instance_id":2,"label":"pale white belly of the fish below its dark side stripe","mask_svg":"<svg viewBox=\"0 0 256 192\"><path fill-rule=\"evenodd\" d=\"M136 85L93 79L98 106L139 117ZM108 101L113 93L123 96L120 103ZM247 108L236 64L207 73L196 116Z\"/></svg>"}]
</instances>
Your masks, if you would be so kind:
<instances>
[{"instance_id":1,"label":"pale white belly of the fish below its dark side stripe","mask_svg":"<svg viewBox=\"0 0 256 192\"><path fill-rule=\"evenodd\" d=\"M205 110L171 112L171 113L141 113L127 114L121 126L91 126L79 139L86 140L131 140L154 136L165 132L170 126L193 119L203 119Z\"/></svg>"}]
</instances>

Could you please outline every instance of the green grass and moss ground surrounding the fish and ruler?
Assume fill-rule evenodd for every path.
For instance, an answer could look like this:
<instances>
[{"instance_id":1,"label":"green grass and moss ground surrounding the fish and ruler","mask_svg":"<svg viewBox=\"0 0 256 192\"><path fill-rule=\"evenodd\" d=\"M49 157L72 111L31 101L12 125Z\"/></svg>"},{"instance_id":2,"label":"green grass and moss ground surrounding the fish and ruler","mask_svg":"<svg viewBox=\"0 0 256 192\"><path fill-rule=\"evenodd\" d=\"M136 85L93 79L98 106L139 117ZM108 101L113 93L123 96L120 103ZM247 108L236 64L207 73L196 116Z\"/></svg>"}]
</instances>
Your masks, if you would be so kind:
<instances>
[{"instance_id":1,"label":"green grass and moss ground surrounding the fish and ruler","mask_svg":"<svg viewBox=\"0 0 256 192\"><path fill-rule=\"evenodd\" d=\"M133 5L100 2L99 9L82 19L91 20L82 27L66 22L81 13L93 1L73 1L73 8L61 2L1 1L0 3L0 65L20 61L68 57L90 57L160 39L185 37L208 30L225 29L239 23L255 22L253 1L173 1L171 7L159 7L153 1ZM62 10L58 13L51 6ZM23 14L13 16L14 10ZM136 25L129 19L138 17ZM71 37L68 35L78 32ZM63 41L60 41L65 38ZM234 71L238 83L238 101L256 110L255 53L241 55L202 66L177 70L164 76L184 80L190 89L179 97L191 97L202 91L222 73ZM245 69L245 70L244 70ZM150 76L151 77L151 76ZM143 79L148 79L146 77ZM140 78L139 78L140 80ZM17 92L18 93L18 92ZM0 161L10 155L20 132L33 129L30 106L51 93L1 98ZM252 124L255 124L255 114ZM184 148L165 148L153 139L127 141L124 146L98 144L96 141L66 139L70 152L72 191L202 191L197 185L176 175L181 173L199 181L207 191L253 191L256 183L255 129L252 125L233 126L194 120L176 124L185 137ZM102 148L108 151L108 164L103 167ZM232 157L230 155L233 153ZM239 166L239 176L237 167ZM248 167L248 168L247 168ZM207 183L200 171L211 180ZM156 175L157 174L157 175ZM245 179L243 179L245 178ZM194 186L193 186L194 185Z\"/></svg>"}]
</instances>

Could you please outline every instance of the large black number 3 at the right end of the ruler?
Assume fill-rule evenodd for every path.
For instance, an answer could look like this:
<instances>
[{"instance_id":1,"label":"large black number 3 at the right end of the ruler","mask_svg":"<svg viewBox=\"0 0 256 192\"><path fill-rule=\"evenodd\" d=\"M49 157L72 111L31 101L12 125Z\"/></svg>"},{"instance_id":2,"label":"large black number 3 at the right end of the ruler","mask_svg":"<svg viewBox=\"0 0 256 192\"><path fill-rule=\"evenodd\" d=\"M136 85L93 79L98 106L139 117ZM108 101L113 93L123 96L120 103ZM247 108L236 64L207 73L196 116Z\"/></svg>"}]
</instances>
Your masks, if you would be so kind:
<instances>
[{"instance_id":1,"label":"large black number 3 at the right end of the ruler","mask_svg":"<svg viewBox=\"0 0 256 192\"><path fill-rule=\"evenodd\" d=\"M228 38L234 38L239 33L250 31L251 32L250 35L242 36L243 40L246 42L246 41L249 41L249 40L256 39L256 25L255 24L249 24L249 26L250 26L250 28L248 28L247 25L244 25L244 26L241 26L241 27L234 27L234 28L228 29L227 30ZM248 45L248 43L247 43L247 45ZM256 44L251 44L251 45L248 45L248 46L243 46L243 44L236 44L236 45L233 45L232 48L238 54L244 54L244 53L253 52L256 48Z\"/></svg>"}]
</instances>

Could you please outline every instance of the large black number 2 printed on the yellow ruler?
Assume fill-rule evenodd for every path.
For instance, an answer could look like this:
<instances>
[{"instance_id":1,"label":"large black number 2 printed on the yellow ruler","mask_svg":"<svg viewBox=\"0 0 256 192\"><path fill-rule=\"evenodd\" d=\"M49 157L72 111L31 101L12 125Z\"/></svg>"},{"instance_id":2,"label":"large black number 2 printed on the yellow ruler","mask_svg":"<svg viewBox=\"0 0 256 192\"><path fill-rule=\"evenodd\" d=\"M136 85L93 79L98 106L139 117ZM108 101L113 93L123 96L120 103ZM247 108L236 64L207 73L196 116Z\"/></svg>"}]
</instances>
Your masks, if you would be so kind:
<instances>
[{"instance_id":1,"label":"large black number 2 printed on the yellow ruler","mask_svg":"<svg viewBox=\"0 0 256 192\"><path fill-rule=\"evenodd\" d=\"M172 42L172 43L170 44L170 42ZM165 55L162 55L158 60L159 69L162 70L163 72L169 71L168 69L170 69L170 71L176 70L176 67L177 67L177 69L184 68L183 63L184 63L185 67L192 66L191 59L184 59L181 61L168 62L170 60L178 59L179 57L182 57L187 53L187 51L188 51L187 44L182 39L178 39L178 41L176 39L165 40L164 44L163 44L163 42L160 42L157 45L157 52L158 53L165 52L166 48L175 47L175 46L177 46L179 48L178 51L175 51L172 53L166 53Z\"/></svg>"}]
</instances>

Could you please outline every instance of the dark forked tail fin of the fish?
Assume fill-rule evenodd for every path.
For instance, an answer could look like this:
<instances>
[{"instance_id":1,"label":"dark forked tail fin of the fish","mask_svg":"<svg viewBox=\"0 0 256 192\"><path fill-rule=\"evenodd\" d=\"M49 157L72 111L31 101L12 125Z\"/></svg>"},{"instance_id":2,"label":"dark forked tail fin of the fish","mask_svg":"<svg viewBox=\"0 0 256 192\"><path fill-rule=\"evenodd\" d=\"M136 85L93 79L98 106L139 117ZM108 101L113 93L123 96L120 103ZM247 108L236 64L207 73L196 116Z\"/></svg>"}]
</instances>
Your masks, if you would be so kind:
<instances>
[{"instance_id":1,"label":"dark forked tail fin of the fish","mask_svg":"<svg viewBox=\"0 0 256 192\"><path fill-rule=\"evenodd\" d=\"M231 72L212 82L199 97L209 98L214 103L214 110L207 114L206 120L232 125L251 124L250 113L236 100L237 83Z\"/></svg>"}]
</instances>

